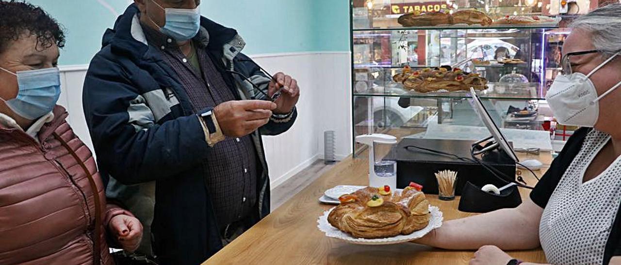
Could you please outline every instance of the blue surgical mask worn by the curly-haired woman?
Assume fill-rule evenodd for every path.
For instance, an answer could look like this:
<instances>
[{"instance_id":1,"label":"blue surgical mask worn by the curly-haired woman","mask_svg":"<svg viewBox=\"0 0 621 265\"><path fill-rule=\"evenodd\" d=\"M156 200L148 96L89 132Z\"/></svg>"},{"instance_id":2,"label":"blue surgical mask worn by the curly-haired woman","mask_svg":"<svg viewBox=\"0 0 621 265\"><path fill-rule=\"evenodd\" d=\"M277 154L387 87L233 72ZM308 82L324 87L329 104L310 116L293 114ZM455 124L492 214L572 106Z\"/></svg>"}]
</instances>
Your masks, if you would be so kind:
<instances>
[{"instance_id":1,"label":"blue surgical mask worn by the curly-haired woman","mask_svg":"<svg viewBox=\"0 0 621 265\"><path fill-rule=\"evenodd\" d=\"M17 76L17 97L4 100L17 115L34 121L52 112L60 97L60 71L57 67L19 71L17 74L0 67L0 70Z\"/></svg>"}]
</instances>

